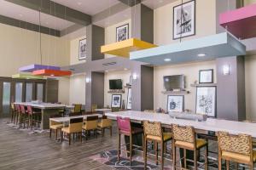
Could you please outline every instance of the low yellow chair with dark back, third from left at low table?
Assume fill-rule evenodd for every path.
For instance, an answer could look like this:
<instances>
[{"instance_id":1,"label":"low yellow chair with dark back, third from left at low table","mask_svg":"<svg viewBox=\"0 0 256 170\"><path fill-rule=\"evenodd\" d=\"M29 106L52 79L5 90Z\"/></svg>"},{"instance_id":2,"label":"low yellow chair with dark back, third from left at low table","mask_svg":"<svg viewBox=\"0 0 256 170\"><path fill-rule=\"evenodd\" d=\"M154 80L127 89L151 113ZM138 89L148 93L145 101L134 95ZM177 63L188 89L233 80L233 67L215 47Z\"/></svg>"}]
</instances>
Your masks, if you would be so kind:
<instances>
[{"instance_id":1,"label":"low yellow chair with dark back, third from left at low table","mask_svg":"<svg viewBox=\"0 0 256 170\"><path fill-rule=\"evenodd\" d=\"M83 125L83 130L85 133L85 139L88 139L88 136L90 135L91 131L94 131L96 133L96 138L97 138L97 127L98 127L98 116L88 116L86 121L84 122Z\"/></svg>"}]
</instances>

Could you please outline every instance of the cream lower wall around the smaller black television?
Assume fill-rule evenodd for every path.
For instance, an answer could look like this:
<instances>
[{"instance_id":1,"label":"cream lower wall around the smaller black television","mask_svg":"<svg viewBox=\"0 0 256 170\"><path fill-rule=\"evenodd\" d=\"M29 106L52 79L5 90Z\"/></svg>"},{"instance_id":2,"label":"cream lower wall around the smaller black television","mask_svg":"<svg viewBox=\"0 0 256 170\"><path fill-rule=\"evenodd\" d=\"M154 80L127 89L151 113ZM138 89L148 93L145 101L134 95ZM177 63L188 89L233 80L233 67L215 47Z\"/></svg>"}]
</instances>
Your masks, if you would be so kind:
<instances>
[{"instance_id":1,"label":"cream lower wall around the smaller black television","mask_svg":"<svg viewBox=\"0 0 256 170\"><path fill-rule=\"evenodd\" d=\"M110 79L122 79L123 86L130 82L131 71L111 71L105 73L104 78L104 106L109 105L111 107L112 94L108 94L109 80ZM125 94L122 94L122 100L125 100L125 107L127 102L128 88L125 88Z\"/></svg>"}]
</instances>

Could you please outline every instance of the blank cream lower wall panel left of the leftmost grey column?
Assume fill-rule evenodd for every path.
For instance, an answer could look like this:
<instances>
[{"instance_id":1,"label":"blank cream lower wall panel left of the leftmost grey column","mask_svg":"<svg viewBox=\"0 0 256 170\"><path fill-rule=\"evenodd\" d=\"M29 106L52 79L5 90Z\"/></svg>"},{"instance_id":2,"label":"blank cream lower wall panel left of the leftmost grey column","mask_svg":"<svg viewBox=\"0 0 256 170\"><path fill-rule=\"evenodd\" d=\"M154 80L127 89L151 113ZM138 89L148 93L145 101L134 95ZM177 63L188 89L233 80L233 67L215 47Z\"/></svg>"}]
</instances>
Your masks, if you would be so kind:
<instances>
[{"instance_id":1,"label":"blank cream lower wall panel left of the leftmost grey column","mask_svg":"<svg viewBox=\"0 0 256 170\"><path fill-rule=\"evenodd\" d=\"M69 103L85 105L85 74L70 77Z\"/></svg>"}]
</instances>

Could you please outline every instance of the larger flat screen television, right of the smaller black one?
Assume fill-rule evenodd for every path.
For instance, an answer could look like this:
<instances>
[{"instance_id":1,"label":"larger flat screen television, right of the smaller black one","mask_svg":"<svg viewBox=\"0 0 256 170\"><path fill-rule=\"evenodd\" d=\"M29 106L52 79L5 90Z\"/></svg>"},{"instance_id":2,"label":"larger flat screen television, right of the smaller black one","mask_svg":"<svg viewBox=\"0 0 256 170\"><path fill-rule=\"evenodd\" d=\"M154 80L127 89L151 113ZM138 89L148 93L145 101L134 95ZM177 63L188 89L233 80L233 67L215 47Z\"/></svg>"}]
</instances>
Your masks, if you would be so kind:
<instances>
[{"instance_id":1,"label":"larger flat screen television, right of the smaller black one","mask_svg":"<svg viewBox=\"0 0 256 170\"><path fill-rule=\"evenodd\" d=\"M183 90L185 88L184 75L174 75L174 76L164 77L164 86L166 88L166 91L172 91L173 89Z\"/></svg>"}]
</instances>

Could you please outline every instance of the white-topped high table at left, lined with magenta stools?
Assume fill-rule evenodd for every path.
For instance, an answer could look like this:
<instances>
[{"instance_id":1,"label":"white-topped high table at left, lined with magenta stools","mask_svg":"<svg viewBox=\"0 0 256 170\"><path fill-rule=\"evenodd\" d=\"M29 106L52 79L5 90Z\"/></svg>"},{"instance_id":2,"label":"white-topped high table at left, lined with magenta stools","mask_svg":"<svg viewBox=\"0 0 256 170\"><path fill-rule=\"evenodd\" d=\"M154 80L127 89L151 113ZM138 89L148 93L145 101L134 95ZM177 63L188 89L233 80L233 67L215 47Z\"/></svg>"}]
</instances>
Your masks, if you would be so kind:
<instances>
[{"instance_id":1,"label":"white-topped high table at left, lined with magenta stools","mask_svg":"<svg viewBox=\"0 0 256 170\"><path fill-rule=\"evenodd\" d=\"M31 105L33 108L39 109L42 112L41 128L49 129L49 117L59 113L59 110L64 109L66 105L49 104L49 103L32 103L32 102L17 102L17 105Z\"/></svg>"}]
</instances>

